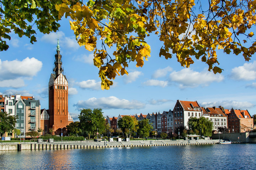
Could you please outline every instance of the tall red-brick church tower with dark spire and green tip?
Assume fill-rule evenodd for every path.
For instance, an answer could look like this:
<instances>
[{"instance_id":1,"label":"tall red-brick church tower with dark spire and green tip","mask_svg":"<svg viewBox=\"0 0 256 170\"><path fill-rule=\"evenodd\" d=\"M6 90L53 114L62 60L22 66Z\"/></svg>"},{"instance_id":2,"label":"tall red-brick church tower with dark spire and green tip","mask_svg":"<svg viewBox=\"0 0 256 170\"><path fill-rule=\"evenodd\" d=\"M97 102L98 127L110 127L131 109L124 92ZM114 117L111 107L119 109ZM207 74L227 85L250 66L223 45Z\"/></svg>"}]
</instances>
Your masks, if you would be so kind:
<instances>
[{"instance_id":1,"label":"tall red-brick church tower with dark spire and green tip","mask_svg":"<svg viewBox=\"0 0 256 170\"><path fill-rule=\"evenodd\" d=\"M59 39L55 54L53 73L49 80L49 128L53 134L59 135L61 128L70 123L68 113L68 81L63 75L62 55L60 55Z\"/></svg>"}]
</instances>

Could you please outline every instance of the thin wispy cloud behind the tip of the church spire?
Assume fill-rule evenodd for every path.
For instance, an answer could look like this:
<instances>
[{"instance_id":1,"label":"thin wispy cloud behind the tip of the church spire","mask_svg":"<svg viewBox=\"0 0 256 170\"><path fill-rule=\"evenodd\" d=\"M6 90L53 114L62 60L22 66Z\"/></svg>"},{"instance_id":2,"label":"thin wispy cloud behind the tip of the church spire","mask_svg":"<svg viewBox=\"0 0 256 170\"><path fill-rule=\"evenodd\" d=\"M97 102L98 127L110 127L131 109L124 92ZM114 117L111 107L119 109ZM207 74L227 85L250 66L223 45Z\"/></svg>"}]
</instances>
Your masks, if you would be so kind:
<instances>
[{"instance_id":1,"label":"thin wispy cloud behind the tip of the church spire","mask_svg":"<svg viewBox=\"0 0 256 170\"><path fill-rule=\"evenodd\" d=\"M75 36L66 37L65 33L63 33L62 31L59 31L57 33L52 32L50 34L44 34L41 40L49 42L51 44L56 44L58 38L59 38L60 49L68 47L69 49L76 50L80 47L78 42L75 39Z\"/></svg>"}]
</instances>

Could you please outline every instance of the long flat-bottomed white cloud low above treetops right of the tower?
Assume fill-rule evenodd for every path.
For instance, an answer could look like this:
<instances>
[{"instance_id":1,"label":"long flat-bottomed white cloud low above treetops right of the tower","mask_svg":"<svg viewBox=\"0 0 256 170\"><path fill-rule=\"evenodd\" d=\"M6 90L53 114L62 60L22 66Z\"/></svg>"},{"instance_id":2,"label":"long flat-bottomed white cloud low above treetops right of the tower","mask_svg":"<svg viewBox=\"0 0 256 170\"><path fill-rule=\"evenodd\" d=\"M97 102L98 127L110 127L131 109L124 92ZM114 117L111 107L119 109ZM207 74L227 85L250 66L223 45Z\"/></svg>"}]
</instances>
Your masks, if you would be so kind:
<instances>
[{"instance_id":1,"label":"long flat-bottomed white cloud low above treetops right of the tower","mask_svg":"<svg viewBox=\"0 0 256 170\"><path fill-rule=\"evenodd\" d=\"M102 98L89 98L86 101L78 101L74 106L78 110L82 108L102 108L102 109L142 109L145 103L137 100L119 99L115 96L102 97Z\"/></svg>"}]
</instances>

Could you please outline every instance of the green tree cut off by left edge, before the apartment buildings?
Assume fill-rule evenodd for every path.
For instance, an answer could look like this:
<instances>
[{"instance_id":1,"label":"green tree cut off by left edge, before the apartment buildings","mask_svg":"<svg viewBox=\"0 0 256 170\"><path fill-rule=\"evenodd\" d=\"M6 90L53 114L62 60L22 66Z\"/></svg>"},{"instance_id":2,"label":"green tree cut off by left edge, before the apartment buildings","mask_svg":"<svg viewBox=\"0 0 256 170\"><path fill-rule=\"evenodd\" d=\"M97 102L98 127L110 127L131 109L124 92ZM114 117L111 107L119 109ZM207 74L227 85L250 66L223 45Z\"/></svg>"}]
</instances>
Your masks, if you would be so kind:
<instances>
[{"instance_id":1,"label":"green tree cut off by left edge, before the apartment buildings","mask_svg":"<svg viewBox=\"0 0 256 170\"><path fill-rule=\"evenodd\" d=\"M14 130L15 123L16 117L10 115L10 113L0 112L0 135Z\"/></svg>"}]
</instances>

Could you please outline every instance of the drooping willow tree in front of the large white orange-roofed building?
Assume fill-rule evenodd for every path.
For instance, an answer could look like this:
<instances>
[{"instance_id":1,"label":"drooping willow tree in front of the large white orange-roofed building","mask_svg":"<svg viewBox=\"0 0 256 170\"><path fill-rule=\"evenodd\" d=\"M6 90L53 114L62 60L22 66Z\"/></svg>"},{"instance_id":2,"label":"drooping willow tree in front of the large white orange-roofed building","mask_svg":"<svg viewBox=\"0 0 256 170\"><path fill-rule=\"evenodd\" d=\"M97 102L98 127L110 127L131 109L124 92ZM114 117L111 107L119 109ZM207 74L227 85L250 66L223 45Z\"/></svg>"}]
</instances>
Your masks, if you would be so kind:
<instances>
[{"instance_id":1,"label":"drooping willow tree in front of the large white orange-roofed building","mask_svg":"<svg viewBox=\"0 0 256 170\"><path fill-rule=\"evenodd\" d=\"M213 122L205 117L191 117L187 124L196 134L201 131L201 135L212 136Z\"/></svg>"}]
</instances>

